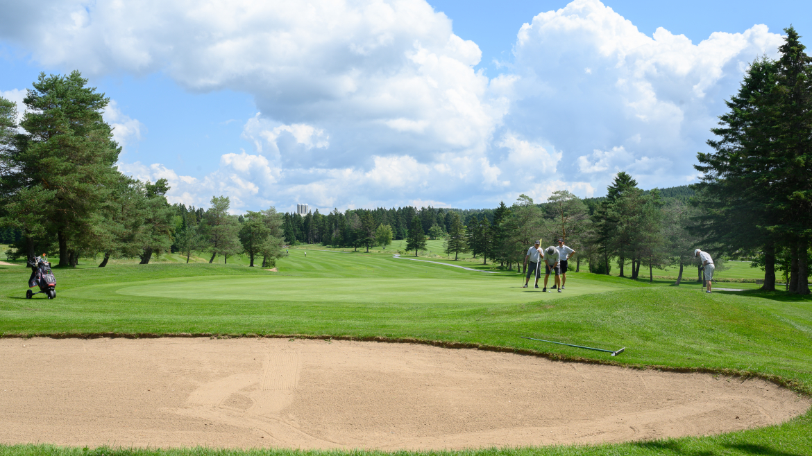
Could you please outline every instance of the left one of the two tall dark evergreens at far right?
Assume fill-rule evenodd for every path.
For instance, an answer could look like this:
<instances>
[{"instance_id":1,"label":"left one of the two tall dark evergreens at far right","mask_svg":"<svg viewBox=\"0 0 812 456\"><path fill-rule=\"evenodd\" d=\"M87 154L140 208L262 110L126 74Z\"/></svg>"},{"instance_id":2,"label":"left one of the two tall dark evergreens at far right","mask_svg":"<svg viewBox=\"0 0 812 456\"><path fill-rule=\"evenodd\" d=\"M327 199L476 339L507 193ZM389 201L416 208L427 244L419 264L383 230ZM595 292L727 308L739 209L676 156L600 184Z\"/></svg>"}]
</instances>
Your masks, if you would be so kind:
<instances>
[{"instance_id":1,"label":"left one of the two tall dark evergreens at far right","mask_svg":"<svg viewBox=\"0 0 812 456\"><path fill-rule=\"evenodd\" d=\"M739 92L725 102L728 113L719 116L719 127L711 129L717 139L707 143L715 152L698 153L700 165L695 166L702 171L696 204L705 210L693 216L692 230L701 230L707 243L718 245L715 253L742 248L763 252L762 290L775 290L776 237L768 226L778 220L769 209L777 189L761 176L772 166L770 131L775 129L775 120L762 107L768 104L777 77L777 65L767 58L750 65Z\"/></svg>"}]
</instances>

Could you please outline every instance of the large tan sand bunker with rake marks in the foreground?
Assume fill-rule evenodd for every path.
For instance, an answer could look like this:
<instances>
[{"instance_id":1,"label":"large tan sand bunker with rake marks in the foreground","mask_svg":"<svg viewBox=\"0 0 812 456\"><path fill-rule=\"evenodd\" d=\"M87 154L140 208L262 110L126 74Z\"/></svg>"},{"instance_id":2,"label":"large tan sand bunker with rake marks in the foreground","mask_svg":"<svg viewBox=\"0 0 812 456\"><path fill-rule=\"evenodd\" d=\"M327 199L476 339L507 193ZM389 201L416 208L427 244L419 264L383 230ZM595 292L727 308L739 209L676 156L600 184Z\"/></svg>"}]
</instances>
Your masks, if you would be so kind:
<instances>
[{"instance_id":1,"label":"large tan sand bunker with rake marks in the foreground","mask_svg":"<svg viewBox=\"0 0 812 456\"><path fill-rule=\"evenodd\" d=\"M0 339L0 442L460 449L628 441L785 421L765 381L433 346Z\"/></svg>"}]
</instances>

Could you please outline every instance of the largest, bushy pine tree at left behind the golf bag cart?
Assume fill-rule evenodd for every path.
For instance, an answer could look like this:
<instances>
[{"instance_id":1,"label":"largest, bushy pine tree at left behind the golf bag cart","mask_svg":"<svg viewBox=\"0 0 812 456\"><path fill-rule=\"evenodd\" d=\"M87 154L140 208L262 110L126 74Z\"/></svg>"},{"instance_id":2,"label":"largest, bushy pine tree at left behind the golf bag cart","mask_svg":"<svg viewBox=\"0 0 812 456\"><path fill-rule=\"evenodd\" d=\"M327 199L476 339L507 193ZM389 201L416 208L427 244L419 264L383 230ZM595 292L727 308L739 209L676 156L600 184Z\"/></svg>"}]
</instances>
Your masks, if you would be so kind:
<instances>
[{"instance_id":1,"label":"largest, bushy pine tree at left behind the golf bag cart","mask_svg":"<svg viewBox=\"0 0 812 456\"><path fill-rule=\"evenodd\" d=\"M2 167L13 170L3 191L6 213L24 215L15 225L27 238L55 232L59 266L76 265L80 245L93 242L97 213L119 176L121 148L102 118L110 99L85 84L79 71L41 73L24 98L24 138L2 157Z\"/></svg>"}]
</instances>

